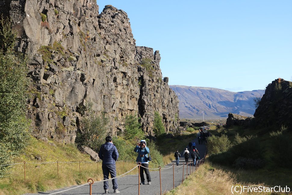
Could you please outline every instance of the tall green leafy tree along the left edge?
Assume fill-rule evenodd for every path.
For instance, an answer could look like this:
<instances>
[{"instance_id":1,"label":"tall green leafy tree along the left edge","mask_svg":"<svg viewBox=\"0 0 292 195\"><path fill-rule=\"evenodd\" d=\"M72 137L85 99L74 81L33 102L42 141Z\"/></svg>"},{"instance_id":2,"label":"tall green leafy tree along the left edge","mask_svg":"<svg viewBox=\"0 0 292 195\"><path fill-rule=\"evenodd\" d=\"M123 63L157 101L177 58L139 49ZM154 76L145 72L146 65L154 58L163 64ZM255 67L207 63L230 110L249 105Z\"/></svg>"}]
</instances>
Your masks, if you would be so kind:
<instances>
[{"instance_id":1,"label":"tall green leafy tree along the left edge","mask_svg":"<svg viewBox=\"0 0 292 195\"><path fill-rule=\"evenodd\" d=\"M14 52L16 33L8 19L0 23L0 164L7 164L30 139L25 117L28 80L26 59ZM8 168L0 166L0 176Z\"/></svg>"}]
</instances>

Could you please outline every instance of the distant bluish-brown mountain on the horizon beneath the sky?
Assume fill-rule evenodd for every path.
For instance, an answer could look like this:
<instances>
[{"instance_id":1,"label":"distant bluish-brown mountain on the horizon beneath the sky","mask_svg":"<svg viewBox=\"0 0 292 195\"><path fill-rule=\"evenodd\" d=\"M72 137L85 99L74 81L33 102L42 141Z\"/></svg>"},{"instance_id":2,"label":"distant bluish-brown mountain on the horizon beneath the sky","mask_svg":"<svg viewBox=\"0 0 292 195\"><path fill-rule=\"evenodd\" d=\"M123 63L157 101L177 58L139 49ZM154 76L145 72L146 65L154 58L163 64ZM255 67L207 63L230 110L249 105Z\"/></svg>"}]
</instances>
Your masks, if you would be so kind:
<instances>
[{"instance_id":1,"label":"distant bluish-brown mountain on the horizon beneath the sky","mask_svg":"<svg viewBox=\"0 0 292 195\"><path fill-rule=\"evenodd\" d=\"M261 97L265 90L231 92L211 87L170 85L179 98L179 117L202 119L227 118L228 113L253 116L253 98Z\"/></svg>"}]
</instances>

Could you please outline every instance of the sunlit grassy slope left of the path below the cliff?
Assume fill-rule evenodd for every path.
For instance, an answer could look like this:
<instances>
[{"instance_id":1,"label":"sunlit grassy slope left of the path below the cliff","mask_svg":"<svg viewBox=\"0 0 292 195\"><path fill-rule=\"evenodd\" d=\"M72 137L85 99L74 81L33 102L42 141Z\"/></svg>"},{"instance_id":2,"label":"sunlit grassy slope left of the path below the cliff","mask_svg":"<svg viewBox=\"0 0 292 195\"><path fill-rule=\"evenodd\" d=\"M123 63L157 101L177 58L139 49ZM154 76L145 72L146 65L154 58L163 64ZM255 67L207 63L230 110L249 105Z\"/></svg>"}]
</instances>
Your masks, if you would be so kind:
<instances>
[{"instance_id":1,"label":"sunlit grassy slope left of the path below the cliff","mask_svg":"<svg viewBox=\"0 0 292 195\"><path fill-rule=\"evenodd\" d=\"M25 153L13 159L13 162L92 162L89 155L79 152L73 145L63 145L53 141L51 146L35 138L31 138ZM35 156L41 158L36 160ZM132 162L117 162L117 173L123 173L135 167ZM99 181L103 178L101 162L81 163L79 176L79 163L59 163L59 177L57 164L26 164L26 180L24 181L23 164L14 165L8 175L0 178L0 195L23 194L36 191L46 191L65 186L87 183L87 179Z\"/></svg>"}]
</instances>

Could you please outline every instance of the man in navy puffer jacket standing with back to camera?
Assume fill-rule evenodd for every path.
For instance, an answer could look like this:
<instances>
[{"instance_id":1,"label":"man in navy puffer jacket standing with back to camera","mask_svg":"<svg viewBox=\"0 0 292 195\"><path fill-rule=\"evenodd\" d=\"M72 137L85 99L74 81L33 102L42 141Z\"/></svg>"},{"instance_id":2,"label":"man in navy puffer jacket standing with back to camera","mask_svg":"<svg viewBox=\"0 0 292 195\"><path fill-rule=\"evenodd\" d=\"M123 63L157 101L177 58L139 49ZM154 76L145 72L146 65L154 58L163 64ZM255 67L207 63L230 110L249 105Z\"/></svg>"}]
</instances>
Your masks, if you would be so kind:
<instances>
[{"instance_id":1,"label":"man in navy puffer jacket standing with back to camera","mask_svg":"<svg viewBox=\"0 0 292 195\"><path fill-rule=\"evenodd\" d=\"M111 178L116 177L116 160L119 158L119 153L116 146L113 144L112 137L107 136L105 141L106 143L101 145L99 149L98 157L102 160L104 180L107 180L109 174ZM113 179L112 183L113 193L120 193L117 180ZM108 181L104 181L104 191L105 193L108 193Z\"/></svg>"}]
</instances>

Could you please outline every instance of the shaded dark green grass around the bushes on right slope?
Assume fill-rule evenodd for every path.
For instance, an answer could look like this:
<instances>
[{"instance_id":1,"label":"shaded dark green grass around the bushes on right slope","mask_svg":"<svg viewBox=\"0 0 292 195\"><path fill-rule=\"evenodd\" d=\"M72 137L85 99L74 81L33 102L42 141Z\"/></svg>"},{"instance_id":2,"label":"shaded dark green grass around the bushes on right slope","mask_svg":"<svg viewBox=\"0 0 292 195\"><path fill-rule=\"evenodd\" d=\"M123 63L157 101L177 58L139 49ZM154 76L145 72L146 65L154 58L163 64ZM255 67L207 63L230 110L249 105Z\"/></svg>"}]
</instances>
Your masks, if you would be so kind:
<instances>
[{"instance_id":1,"label":"shaded dark green grass around the bushes on right slope","mask_svg":"<svg viewBox=\"0 0 292 195\"><path fill-rule=\"evenodd\" d=\"M274 130L275 131L275 130ZM211 130L211 134L220 136L226 134L233 142L235 135L238 133L241 137L256 135L255 139L259 146L262 148L262 159L264 166L259 169L235 169L227 163L220 163L221 168L235 174L238 182L243 183L265 183L269 186L275 185L288 185L292 187L292 170L290 168L280 167L274 160L275 151L272 150L273 139L269 135L269 129L266 128L247 128L243 129L239 126L233 126L228 129ZM290 136L287 134L287 136ZM256 148L255 148L256 150ZM225 165L224 165L225 164Z\"/></svg>"}]
</instances>

